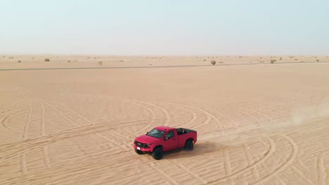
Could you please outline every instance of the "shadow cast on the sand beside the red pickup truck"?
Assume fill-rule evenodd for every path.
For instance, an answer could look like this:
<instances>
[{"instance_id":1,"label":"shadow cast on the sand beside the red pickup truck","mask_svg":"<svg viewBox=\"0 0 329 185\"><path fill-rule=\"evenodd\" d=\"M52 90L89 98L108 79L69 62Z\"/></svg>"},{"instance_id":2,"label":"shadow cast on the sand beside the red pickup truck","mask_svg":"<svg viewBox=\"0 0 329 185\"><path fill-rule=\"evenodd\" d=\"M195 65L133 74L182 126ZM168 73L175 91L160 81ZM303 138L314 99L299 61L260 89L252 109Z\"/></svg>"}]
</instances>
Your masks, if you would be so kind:
<instances>
[{"instance_id":1,"label":"shadow cast on the sand beside the red pickup truck","mask_svg":"<svg viewBox=\"0 0 329 185\"><path fill-rule=\"evenodd\" d=\"M175 149L173 151L164 152L163 159L174 160L182 158L193 158L196 156L205 156L209 153L215 153L228 149L234 146L227 146L219 142L197 142L194 145L192 151L186 151L185 149Z\"/></svg>"}]
</instances>

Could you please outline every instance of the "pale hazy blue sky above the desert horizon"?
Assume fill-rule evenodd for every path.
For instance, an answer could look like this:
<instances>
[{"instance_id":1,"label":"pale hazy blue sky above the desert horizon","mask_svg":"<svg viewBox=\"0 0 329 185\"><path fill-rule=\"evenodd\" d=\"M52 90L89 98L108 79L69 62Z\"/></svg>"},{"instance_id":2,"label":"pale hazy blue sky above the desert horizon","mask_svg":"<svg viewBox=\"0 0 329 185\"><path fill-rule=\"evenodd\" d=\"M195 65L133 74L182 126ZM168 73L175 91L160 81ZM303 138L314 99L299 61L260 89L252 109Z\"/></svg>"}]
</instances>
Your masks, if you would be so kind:
<instances>
[{"instance_id":1,"label":"pale hazy blue sky above the desert horizon","mask_svg":"<svg viewBox=\"0 0 329 185\"><path fill-rule=\"evenodd\" d=\"M329 55L328 0L0 0L0 53Z\"/></svg>"}]
</instances>

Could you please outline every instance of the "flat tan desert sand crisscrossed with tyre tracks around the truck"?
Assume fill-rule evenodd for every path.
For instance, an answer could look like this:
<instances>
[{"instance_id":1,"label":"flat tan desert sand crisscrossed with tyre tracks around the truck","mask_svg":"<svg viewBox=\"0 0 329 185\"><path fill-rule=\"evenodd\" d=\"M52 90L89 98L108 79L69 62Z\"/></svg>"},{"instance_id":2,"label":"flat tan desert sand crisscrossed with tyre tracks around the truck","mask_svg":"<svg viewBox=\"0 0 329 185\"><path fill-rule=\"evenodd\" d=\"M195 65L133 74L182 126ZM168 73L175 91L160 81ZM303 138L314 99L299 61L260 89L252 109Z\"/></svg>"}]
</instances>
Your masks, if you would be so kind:
<instances>
[{"instance_id":1,"label":"flat tan desert sand crisscrossed with tyre tracks around the truck","mask_svg":"<svg viewBox=\"0 0 329 185\"><path fill-rule=\"evenodd\" d=\"M0 71L0 184L329 184L328 57L45 57L0 60L57 68ZM137 155L157 125L194 150Z\"/></svg>"}]
</instances>

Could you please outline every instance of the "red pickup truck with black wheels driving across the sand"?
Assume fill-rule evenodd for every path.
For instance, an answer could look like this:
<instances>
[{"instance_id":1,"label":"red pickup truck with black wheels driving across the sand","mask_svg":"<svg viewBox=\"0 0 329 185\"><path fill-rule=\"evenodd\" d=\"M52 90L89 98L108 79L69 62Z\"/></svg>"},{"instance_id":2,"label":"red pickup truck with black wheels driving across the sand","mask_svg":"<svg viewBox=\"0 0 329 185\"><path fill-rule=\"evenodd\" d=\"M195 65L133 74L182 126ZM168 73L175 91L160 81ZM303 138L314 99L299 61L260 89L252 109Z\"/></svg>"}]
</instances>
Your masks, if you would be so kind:
<instances>
[{"instance_id":1,"label":"red pickup truck with black wheels driving across the sand","mask_svg":"<svg viewBox=\"0 0 329 185\"><path fill-rule=\"evenodd\" d=\"M153 128L146 135L136 137L134 148L136 153L151 153L153 158L159 160L164 151L178 148L193 150L193 144L197 141L197 132L187 128L170 128L160 126Z\"/></svg>"}]
</instances>

